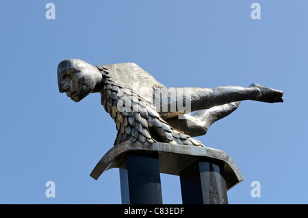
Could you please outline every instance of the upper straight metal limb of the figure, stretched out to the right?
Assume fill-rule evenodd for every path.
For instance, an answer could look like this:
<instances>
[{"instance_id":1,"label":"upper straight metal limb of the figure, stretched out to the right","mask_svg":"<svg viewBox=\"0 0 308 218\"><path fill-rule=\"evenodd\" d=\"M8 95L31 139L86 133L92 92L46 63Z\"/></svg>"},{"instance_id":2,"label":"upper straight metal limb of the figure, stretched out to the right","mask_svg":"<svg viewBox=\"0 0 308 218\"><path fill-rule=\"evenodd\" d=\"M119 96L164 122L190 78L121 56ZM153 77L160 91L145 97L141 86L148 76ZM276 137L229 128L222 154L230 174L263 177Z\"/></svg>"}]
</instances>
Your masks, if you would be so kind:
<instances>
[{"instance_id":1,"label":"upper straight metal limb of the figure, stretched out to the right","mask_svg":"<svg viewBox=\"0 0 308 218\"><path fill-rule=\"evenodd\" d=\"M281 90L266 88L258 84L251 84L248 88L239 86L162 88L160 92L166 93L164 96L168 96L168 98L157 98L155 96L155 106L164 119L171 119L179 114L205 110L235 101L283 102L283 92ZM156 90L155 93L157 93ZM157 99L160 101L158 102L159 104L157 104ZM185 107L179 107L183 104Z\"/></svg>"}]
</instances>

